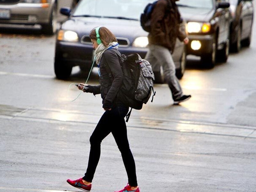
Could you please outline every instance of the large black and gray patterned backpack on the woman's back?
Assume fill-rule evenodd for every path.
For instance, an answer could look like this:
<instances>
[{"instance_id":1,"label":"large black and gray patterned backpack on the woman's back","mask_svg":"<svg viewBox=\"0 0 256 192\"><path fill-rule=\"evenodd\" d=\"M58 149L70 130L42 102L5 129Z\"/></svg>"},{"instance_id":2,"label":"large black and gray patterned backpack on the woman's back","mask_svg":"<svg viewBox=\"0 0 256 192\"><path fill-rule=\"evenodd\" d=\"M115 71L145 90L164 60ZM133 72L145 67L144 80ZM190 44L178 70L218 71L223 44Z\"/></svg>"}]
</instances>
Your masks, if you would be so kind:
<instances>
[{"instance_id":1,"label":"large black and gray patterned backpack on the woman's back","mask_svg":"<svg viewBox=\"0 0 256 192\"><path fill-rule=\"evenodd\" d=\"M116 51L121 60L120 65L124 75L117 97L126 106L140 110L143 103L148 102L151 92L153 92L151 102L156 94L153 88L155 76L151 64L147 60L141 59L137 53L126 56L121 55L116 49L113 50ZM129 120L131 110L126 116L126 122Z\"/></svg>"}]
</instances>

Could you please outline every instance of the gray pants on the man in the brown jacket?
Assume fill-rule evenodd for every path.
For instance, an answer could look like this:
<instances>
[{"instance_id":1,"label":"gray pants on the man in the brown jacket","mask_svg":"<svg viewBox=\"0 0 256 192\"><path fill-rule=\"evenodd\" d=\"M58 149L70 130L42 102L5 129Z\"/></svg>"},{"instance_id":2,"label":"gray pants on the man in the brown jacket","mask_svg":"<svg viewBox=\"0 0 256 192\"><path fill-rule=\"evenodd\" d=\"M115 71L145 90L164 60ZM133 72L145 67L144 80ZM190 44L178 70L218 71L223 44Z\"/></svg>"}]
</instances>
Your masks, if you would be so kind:
<instances>
[{"instance_id":1,"label":"gray pants on the man in the brown jacket","mask_svg":"<svg viewBox=\"0 0 256 192\"><path fill-rule=\"evenodd\" d=\"M159 70L159 65L163 67L164 80L172 92L172 99L179 99L182 96L182 89L178 78L175 76L175 64L170 50L159 45L149 45L145 60L148 60L152 65L153 71Z\"/></svg>"}]
</instances>

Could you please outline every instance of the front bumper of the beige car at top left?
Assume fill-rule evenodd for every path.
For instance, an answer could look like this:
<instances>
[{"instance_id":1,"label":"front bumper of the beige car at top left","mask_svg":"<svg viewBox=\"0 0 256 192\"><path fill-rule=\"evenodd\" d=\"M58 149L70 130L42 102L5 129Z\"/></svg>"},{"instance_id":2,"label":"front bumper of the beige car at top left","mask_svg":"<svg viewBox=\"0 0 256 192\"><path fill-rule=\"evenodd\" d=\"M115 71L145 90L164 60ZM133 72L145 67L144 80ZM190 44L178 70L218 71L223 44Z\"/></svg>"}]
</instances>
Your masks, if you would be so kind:
<instances>
[{"instance_id":1,"label":"front bumper of the beige car at top left","mask_svg":"<svg viewBox=\"0 0 256 192\"><path fill-rule=\"evenodd\" d=\"M0 23L4 24L44 24L49 22L50 3L45 4L0 4L0 11L6 14L0 14ZM9 18L8 18L9 12Z\"/></svg>"}]
</instances>

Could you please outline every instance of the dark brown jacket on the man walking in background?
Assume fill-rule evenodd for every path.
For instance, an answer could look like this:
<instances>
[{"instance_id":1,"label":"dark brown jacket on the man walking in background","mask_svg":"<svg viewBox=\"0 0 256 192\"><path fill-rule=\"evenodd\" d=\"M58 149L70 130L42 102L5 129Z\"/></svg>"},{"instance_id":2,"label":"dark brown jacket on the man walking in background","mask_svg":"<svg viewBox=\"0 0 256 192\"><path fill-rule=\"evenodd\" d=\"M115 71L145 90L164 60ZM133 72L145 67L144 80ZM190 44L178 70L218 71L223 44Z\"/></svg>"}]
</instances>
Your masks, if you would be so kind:
<instances>
[{"instance_id":1,"label":"dark brown jacket on the man walking in background","mask_svg":"<svg viewBox=\"0 0 256 192\"><path fill-rule=\"evenodd\" d=\"M151 14L151 32L149 44L164 46L173 52L176 38L186 38L186 32L180 29L180 12L175 0L159 0Z\"/></svg>"}]
</instances>

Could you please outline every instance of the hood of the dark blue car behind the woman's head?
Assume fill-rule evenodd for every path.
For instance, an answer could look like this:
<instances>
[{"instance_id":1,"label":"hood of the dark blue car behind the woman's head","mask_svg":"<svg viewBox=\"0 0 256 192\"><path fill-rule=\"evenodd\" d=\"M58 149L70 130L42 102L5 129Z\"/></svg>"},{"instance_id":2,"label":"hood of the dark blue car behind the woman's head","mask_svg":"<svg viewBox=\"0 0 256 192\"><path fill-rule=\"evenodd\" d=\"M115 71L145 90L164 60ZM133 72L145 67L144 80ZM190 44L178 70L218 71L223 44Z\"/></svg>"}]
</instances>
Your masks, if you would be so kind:
<instances>
[{"instance_id":1,"label":"hood of the dark blue car behind the woman's head","mask_svg":"<svg viewBox=\"0 0 256 192\"><path fill-rule=\"evenodd\" d=\"M78 35L89 35L93 28L100 26L108 28L117 37L135 38L148 35L141 28L139 20L115 18L72 17L62 24L61 29L75 31Z\"/></svg>"}]
</instances>

